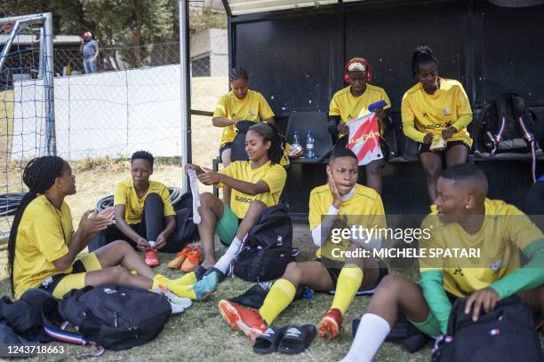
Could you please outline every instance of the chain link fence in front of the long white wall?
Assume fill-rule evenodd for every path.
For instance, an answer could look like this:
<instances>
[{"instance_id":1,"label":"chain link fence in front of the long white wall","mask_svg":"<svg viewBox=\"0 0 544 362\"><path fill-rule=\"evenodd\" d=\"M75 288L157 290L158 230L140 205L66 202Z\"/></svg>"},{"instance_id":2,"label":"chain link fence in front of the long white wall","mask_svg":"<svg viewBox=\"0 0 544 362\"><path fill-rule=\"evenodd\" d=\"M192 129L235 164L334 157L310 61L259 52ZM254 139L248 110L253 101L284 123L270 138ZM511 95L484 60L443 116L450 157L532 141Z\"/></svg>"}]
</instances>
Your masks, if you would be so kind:
<instances>
[{"instance_id":1,"label":"chain link fence in front of the long white wall","mask_svg":"<svg viewBox=\"0 0 544 362\"><path fill-rule=\"evenodd\" d=\"M193 36L196 35L191 35L191 46L202 43ZM215 37L216 43L223 40L222 35ZM0 126L5 130L2 193L25 191L22 169L35 156L27 151L44 142L44 133L25 131L25 127L40 121L36 118L36 104L43 101L39 89L28 91L30 85L35 90L39 83L39 51L36 43L28 43L18 45L18 58L12 59L1 74ZM53 43L53 54L57 153L70 161L76 177L78 170L84 170L84 191L70 198L75 217L92 208L104 193L112 193L119 177L128 177L128 169L124 167L119 173L111 160L126 159L140 149L153 153L157 163L164 165L154 175L157 181L180 186L180 44L100 48L98 72L90 75L83 74L78 44ZM226 51L196 51L191 59L191 74L191 108L212 113L220 96L228 92ZM191 116L193 161L209 168L219 152L222 131L213 127L211 120L210 115ZM12 142L7 134L17 128L15 122L20 122L20 142ZM89 174L92 169L105 172ZM92 183L86 182L86 178L92 179ZM9 231L10 220L2 217L0 233Z\"/></svg>"}]
</instances>

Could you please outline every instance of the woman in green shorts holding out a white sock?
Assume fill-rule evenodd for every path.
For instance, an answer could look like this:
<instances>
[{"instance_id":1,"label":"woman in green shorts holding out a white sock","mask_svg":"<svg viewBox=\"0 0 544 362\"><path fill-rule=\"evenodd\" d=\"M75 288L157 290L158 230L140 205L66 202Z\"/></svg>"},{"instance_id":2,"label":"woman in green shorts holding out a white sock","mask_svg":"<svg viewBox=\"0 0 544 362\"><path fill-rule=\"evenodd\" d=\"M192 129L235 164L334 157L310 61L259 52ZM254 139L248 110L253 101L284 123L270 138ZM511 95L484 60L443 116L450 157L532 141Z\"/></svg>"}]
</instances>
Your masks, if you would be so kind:
<instances>
[{"instance_id":1,"label":"woman in green shorts holding out a white sock","mask_svg":"<svg viewBox=\"0 0 544 362\"><path fill-rule=\"evenodd\" d=\"M233 189L230 206L212 193L200 195L198 212L202 222L198 224L198 232L204 246L202 267L208 269L208 273L218 271L220 279L227 273L242 240L260 213L279 202L287 177L285 169L279 165L284 154L282 138L273 124L253 124L245 136L245 151L249 161L234 161L219 172L187 165L187 169L196 170L198 180L204 185ZM217 262L213 256L214 234L228 245L227 252Z\"/></svg>"}]
</instances>

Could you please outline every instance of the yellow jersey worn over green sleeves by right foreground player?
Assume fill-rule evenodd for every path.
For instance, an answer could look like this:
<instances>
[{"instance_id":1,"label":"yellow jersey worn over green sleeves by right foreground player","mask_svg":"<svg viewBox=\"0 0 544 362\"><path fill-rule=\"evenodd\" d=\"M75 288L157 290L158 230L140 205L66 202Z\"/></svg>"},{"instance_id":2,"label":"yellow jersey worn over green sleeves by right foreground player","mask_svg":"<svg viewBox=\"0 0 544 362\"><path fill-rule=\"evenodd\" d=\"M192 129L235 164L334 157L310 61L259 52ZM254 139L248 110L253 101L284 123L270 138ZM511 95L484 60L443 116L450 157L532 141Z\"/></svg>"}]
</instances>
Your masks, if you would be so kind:
<instances>
[{"instance_id":1,"label":"yellow jersey worn over green sleeves by right foreground player","mask_svg":"<svg viewBox=\"0 0 544 362\"><path fill-rule=\"evenodd\" d=\"M431 238L420 239L420 248L457 249L457 256L420 258L420 271L444 270L444 289L460 297L516 271L520 250L544 238L523 212L500 200L485 200L484 223L475 234L468 234L458 223L441 223L436 211L426 217L422 228L431 224ZM477 250L478 255L461 256L461 249Z\"/></svg>"}]
</instances>

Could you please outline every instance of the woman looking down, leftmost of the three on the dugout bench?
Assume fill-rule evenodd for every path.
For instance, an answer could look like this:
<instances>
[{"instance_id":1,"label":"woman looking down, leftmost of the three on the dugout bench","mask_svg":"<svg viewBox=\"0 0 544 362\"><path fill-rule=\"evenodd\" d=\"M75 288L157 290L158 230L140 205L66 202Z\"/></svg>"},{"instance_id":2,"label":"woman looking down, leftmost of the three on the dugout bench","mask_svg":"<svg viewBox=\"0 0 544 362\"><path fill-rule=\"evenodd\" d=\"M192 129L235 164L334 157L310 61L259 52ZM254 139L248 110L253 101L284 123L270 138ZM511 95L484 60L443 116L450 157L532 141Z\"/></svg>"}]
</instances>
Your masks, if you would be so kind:
<instances>
[{"instance_id":1,"label":"woman looking down, leftmost of the three on the dugout bench","mask_svg":"<svg viewBox=\"0 0 544 362\"><path fill-rule=\"evenodd\" d=\"M220 157L223 166L230 163L232 142L236 137L236 123L252 121L274 123L274 112L268 106L267 99L258 91L249 87L249 76L242 67L230 69L228 72L230 91L220 98L219 104L213 113L212 123L215 127L223 128L221 136ZM230 187L223 189L223 200L230 205Z\"/></svg>"}]
</instances>

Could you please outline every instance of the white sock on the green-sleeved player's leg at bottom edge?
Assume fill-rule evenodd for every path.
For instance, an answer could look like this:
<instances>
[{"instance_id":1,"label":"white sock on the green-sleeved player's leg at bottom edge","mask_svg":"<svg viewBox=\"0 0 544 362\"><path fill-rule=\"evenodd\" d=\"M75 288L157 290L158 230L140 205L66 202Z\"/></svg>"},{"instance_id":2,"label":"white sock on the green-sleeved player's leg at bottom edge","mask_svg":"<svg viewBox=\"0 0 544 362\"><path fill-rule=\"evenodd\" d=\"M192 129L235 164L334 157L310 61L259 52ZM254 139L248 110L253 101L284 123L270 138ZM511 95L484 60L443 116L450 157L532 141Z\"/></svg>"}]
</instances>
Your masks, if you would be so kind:
<instances>
[{"instance_id":1,"label":"white sock on the green-sleeved player's leg at bottom edge","mask_svg":"<svg viewBox=\"0 0 544 362\"><path fill-rule=\"evenodd\" d=\"M348 354L340 362L370 362L385 341L391 327L379 315L366 313L361 318Z\"/></svg>"}]
</instances>

